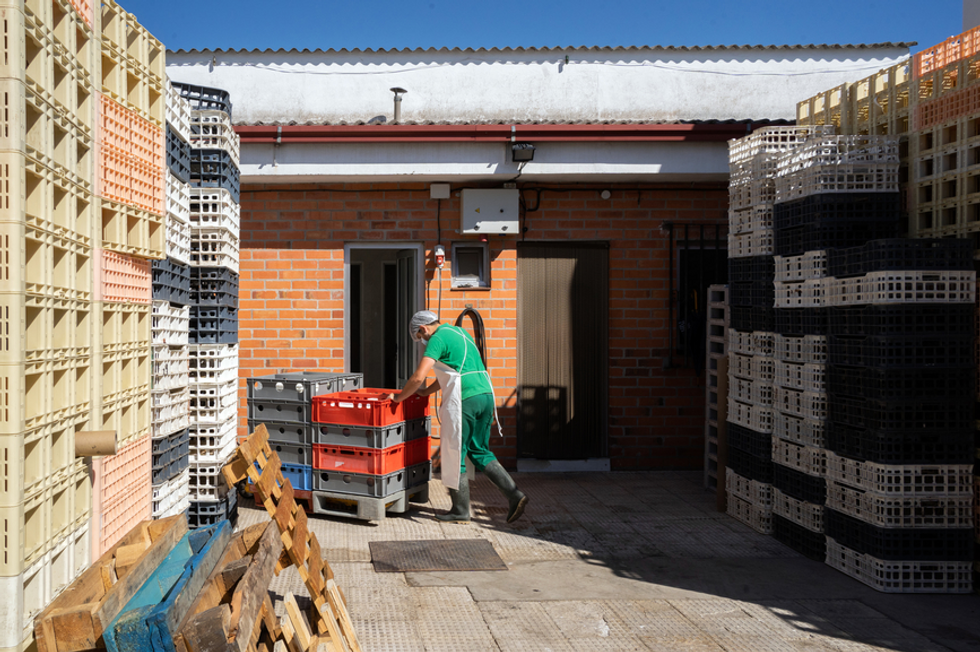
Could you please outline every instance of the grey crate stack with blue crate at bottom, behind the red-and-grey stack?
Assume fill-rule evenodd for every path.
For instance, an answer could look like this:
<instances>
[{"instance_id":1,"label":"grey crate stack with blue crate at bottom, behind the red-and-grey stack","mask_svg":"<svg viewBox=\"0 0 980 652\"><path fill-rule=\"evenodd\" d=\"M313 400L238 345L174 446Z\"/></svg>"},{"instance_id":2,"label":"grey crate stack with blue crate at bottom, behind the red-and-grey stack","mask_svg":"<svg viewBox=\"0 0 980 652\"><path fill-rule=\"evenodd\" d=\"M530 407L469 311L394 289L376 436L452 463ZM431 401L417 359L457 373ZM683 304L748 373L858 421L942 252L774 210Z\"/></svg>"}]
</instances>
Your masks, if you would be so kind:
<instances>
[{"instance_id":1,"label":"grey crate stack with blue crate at bottom, behind the red-and-grey stack","mask_svg":"<svg viewBox=\"0 0 980 652\"><path fill-rule=\"evenodd\" d=\"M248 379L248 431L266 427L269 445L282 462L282 474L301 497L309 499L314 486L313 397L363 386L359 373L294 371Z\"/></svg>"}]
</instances>

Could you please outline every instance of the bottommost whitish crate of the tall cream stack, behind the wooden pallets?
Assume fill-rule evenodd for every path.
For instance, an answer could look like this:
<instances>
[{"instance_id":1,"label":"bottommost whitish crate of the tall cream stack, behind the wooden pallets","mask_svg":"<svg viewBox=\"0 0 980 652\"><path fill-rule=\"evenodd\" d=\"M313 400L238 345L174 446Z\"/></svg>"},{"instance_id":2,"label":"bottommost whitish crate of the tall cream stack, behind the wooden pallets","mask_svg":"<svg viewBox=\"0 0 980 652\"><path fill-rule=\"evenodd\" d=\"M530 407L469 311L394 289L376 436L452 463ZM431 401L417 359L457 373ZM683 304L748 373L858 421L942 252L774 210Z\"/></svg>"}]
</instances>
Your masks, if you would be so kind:
<instances>
[{"instance_id":1,"label":"bottommost whitish crate of the tall cream stack, behind the wooden pallets","mask_svg":"<svg viewBox=\"0 0 980 652\"><path fill-rule=\"evenodd\" d=\"M34 618L90 564L89 524L76 526L24 572L0 577L0 649L19 649L34 634Z\"/></svg>"}]
</instances>

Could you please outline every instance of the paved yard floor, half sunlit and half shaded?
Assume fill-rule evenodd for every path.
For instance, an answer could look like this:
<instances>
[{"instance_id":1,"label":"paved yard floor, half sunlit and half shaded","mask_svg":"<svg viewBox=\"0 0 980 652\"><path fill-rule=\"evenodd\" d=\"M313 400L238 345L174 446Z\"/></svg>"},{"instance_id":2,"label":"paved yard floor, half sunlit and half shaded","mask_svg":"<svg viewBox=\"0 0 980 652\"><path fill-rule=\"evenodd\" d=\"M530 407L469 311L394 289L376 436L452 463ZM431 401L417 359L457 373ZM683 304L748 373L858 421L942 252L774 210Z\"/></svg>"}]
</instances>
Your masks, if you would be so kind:
<instances>
[{"instance_id":1,"label":"paved yard floor, half sunlit and half shaded","mask_svg":"<svg viewBox=\"0 0 980 652\"><path fill-rule=\"evenodd\" d=\"M475 521L430 502L380 523L311 518L364 652L980 652L980 596L888 595L714 509L700 472L515 474L530 496L508 526L496 488ZM264 520L243 502L239 525ZM507 571L375 573L370 541L490 541ZM270 590L304 594L283 572Z\"/></svg>"}]
</instances>

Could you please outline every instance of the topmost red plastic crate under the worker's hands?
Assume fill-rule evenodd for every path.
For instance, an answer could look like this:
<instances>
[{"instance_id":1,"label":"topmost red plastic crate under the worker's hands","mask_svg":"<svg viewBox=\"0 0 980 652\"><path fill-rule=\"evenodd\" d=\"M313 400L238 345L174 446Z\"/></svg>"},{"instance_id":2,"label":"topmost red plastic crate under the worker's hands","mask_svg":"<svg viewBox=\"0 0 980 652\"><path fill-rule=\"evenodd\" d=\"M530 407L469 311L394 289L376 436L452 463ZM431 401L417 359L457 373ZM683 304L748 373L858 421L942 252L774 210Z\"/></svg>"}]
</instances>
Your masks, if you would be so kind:
<instances>
[{"instance_id":1,"label":"topmost red plastic crate under the worker's hands","mask_svg":"<svg viewBox=\"0 0 980 652\"><path fill-rule=\"evenodd\" d=\"M377 427L429 416L429 397L416 395L395 403L388 399L388 395L396 393L398 390L365 388L314 396L313 421Z\"/></svg>"}]
</instances>

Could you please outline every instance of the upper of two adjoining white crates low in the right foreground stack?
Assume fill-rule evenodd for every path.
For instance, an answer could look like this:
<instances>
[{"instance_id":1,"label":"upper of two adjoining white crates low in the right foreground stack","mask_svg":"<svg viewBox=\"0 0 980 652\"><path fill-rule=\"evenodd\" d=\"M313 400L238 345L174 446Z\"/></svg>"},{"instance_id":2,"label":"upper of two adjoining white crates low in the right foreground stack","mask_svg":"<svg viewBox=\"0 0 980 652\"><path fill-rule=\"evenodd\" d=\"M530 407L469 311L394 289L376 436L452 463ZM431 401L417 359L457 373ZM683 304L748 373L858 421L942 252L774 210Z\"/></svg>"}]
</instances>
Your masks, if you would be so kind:
<instances>
[{"instance_id":1,"label":"upper of two adjoining white crates low in the right foreground stack","mask_svg":"<svg viewBox=\"0 0 980 652\"><path fill-rule=\"evenodd\" d=\"M827 451L827 479L886 496L972 496L972 464L876 464Z\"/></svg>"}]
</instances>

